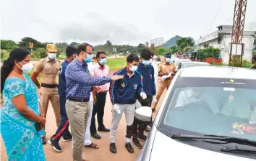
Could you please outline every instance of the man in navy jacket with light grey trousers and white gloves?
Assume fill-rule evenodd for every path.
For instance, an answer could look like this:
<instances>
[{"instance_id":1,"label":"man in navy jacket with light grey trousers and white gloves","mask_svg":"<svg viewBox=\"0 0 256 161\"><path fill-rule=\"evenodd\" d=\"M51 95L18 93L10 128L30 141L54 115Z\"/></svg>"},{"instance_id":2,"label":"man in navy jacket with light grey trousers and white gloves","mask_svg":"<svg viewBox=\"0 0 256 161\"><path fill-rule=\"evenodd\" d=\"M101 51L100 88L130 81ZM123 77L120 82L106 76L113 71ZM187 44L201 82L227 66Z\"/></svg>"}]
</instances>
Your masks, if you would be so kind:
<instances>
[{"instance_id":1,"label":"man in navy jacket with light grey trousers and white gloves","mask_svg":"<svg viewBox=\"0 0 256 161\"><path fill-rule=\"evenodd\" d=\"M130 54L127 57L127 67L114 73L114 75L124 75L124 78L122 80L111 81L109 93L111 96L111 102L113 103L113 118L110 129L110 151L112 153L116 153L116 130L123 112L127 122L125 147L127 148L128 152L134 152L130 142L133 131L132 124L135 116L135 102L138 96L142 97L143 99L147 98L147 95L143 91L141 75L139 72L137 72L139 61L140 59L137 55Z\"/></svg>"}]
</instances>

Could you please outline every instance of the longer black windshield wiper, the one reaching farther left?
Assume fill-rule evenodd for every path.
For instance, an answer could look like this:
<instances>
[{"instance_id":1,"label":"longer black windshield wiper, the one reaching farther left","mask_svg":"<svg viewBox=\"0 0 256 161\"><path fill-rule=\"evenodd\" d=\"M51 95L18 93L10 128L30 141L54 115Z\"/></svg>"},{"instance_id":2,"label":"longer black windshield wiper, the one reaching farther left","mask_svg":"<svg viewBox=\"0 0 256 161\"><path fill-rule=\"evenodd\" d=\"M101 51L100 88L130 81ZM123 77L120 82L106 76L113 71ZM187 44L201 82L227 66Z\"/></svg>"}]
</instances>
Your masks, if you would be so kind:
<instances>
[{"instance_id":1,"label":"longer black windshield wiper, the one reaching farther left","mask_svg":"<svg viewBox=\"0 0 256 161\"><path fill-rule=\"evenodd\" d=\"M245 144L245 145L250 145L253 147L256 147L256 141L252 141L249 139L244 139L244 138L238 138L238 137L226 137L226 136L221 136L221 135L187 135L187 134L174 134L171 136L171 139L179 139L179 138L184 138L184 139L216 139L220 140L226 143L237 143L237 144Z\"/></svg>"}]
</instances>

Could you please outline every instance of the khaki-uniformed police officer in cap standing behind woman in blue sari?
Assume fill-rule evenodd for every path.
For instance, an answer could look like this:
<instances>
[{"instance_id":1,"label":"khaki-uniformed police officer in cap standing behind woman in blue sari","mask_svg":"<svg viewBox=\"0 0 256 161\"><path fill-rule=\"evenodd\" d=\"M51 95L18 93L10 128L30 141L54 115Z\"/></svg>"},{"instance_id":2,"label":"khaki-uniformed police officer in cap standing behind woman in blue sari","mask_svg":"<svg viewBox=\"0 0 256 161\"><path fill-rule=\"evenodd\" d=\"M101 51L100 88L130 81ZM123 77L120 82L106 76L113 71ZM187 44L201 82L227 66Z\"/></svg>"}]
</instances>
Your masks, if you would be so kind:
<instances>
[{"instance_id":1,"label":"khaki-uniformed police officer in cap standing behind woman in blue sari","mask_svg":"<svg viewBox=\"0 0 256 161\"><path fill-rule=\"evenodd\" d=\"M40 88L40 108L43 109L44 118L46 118L48 103L54 108L54 114L56 118L56 124L59 126L61 120L59 109L59 94L57 75L59 74L59 68L61 66L60 60L56 60L57 47L54 44L46 45L47 57L38 61L35 64L34 71L32 73L32 80L38 88ZM38 83L38 75L41 75L41 84ZM45 130L45 129L44 129ZM42 136L42 143L46 144L46 136Z\"/></svg>"}]
</instances>

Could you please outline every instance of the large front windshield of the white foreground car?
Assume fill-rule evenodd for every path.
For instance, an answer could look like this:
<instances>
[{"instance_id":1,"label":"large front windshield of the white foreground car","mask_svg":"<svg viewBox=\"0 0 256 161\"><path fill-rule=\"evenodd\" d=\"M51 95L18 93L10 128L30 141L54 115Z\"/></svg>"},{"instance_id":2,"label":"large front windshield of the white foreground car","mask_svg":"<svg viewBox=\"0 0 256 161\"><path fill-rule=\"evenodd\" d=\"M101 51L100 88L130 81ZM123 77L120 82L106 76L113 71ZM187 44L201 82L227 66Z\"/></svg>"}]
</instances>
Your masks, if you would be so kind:
<instances>
[{"instance_id":1,"label":"large front windshield of the white foreground car","mask_svg":"<svg viewBox=\"0 0 256 161\"><path fill-rule=\"evenodd\" d=\"M176 134L256 140L256 83L248 79L178 78L159 126Z\"/></svg>"}]
</instances>

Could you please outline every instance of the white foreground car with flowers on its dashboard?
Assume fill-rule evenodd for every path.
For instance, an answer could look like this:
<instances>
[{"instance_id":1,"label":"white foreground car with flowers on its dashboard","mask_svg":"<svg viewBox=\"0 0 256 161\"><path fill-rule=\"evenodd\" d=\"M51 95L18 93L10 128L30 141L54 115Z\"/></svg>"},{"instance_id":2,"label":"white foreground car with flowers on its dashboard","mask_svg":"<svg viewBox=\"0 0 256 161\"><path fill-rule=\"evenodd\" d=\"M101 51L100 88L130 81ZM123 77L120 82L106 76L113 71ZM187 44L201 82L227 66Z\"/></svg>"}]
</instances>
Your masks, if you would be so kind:
<instances>
[{"instance_id":1,"label":"white foreground car with flowers on its dashboard","mask_svg":"<svg viewBox=\"0 0 256 161\"><path fill-rule=\"evenodd\" d=\"M150 111L150 109L148 110ZM135 111L146 118L148 111ZM137 161L256 159L256 70L179 70Z\"/></svg>"}]
</instances>

